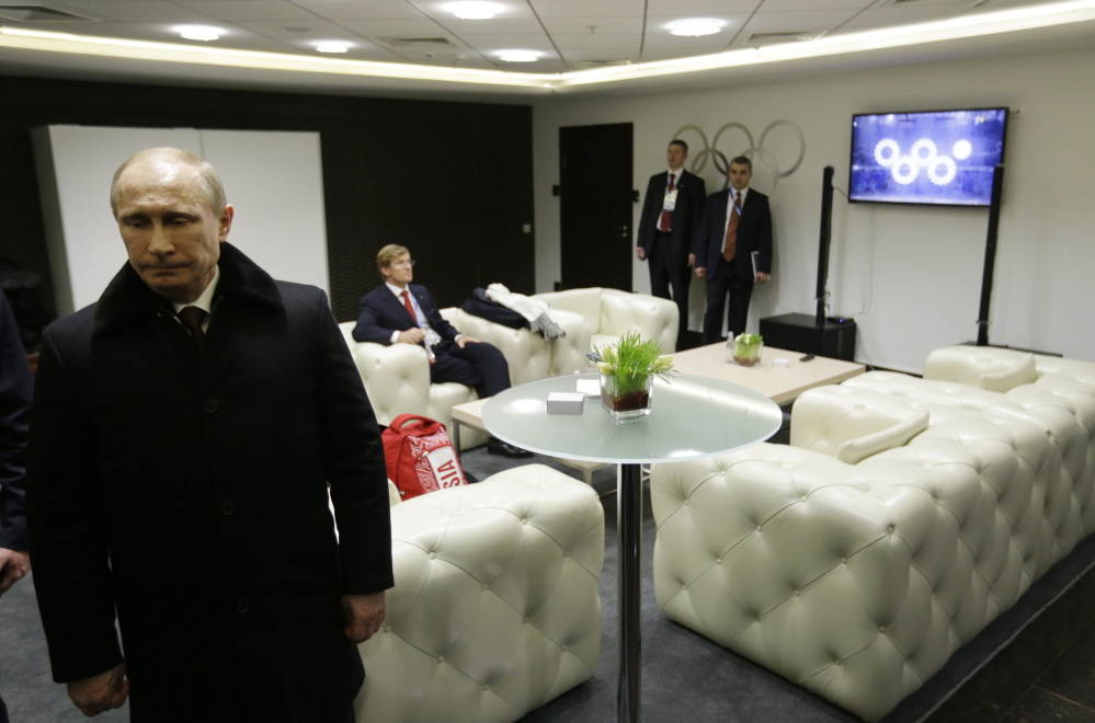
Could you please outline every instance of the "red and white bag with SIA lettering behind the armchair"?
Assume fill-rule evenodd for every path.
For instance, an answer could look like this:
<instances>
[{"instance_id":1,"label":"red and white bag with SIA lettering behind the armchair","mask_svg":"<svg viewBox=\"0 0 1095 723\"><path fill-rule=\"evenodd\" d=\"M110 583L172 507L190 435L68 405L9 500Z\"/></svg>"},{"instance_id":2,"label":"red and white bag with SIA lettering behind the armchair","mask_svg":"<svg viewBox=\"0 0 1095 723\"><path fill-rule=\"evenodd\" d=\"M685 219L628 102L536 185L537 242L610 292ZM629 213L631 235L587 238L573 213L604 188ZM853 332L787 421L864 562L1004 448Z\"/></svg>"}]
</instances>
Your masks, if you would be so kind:
<instances>
[{"instance_id":1,"label":"red and white bag with SIA lettering behind the armchair","mask_svg":"<svg viewBox=\"0 0 1095 723\"><path fill-rule=\"evenodd\" d=\"M400 414L384 431L381 439L388 479L399 487L402 500L468 483L441 422L418 414Z\"/></svg>"}]
</instances>

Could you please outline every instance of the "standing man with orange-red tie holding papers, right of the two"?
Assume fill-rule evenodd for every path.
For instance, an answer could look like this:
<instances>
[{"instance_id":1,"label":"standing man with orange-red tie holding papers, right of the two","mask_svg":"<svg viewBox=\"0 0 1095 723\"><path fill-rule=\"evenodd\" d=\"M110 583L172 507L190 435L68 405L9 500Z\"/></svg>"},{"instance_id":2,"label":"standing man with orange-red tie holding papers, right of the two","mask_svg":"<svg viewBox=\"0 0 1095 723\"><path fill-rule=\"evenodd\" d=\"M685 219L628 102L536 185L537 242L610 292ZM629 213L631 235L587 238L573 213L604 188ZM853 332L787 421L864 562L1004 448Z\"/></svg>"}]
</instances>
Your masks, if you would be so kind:
<instances>
[{"instance_id":1,"label":"standing man with orange-red tie holding papers, right of the two","mask_svg":"<svg viewBox=\"0 0 1095 723\"><path fill-rule=\"evenodd\" d=\"M727 333L744 333L753 284L764 284L772 273L772 214L768 197L749 187L753 162L739 156L730 161L727 176L730 188L707 197L692 244L696 277L707 279L704 344L722 338L728 296Z\"/></svg>"}]
</instances>

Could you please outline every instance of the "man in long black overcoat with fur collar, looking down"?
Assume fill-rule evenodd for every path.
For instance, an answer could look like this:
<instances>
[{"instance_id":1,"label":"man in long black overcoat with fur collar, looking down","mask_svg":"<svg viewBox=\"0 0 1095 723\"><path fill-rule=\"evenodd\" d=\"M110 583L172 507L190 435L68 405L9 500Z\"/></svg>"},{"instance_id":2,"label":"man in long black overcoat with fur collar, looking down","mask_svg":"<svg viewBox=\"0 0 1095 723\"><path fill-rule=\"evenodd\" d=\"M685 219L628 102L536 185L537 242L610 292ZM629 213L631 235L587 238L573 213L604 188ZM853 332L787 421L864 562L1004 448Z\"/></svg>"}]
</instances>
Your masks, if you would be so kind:
<instances>
[{"instance_id":1,"label":"man in long black overcoat with fur collar, looking down","mask_svg":"<svg viewBox=\"0 0 1095 723\"><path fill-rule=\"evenodd\" d=\"M327 296L225 243L232 206L191 153L137 153L111 205L129 263L46 329L32 413L54 679L87 715L132 693L134 722L352 721L391 537Z\"/></svg>"}]
</instances>

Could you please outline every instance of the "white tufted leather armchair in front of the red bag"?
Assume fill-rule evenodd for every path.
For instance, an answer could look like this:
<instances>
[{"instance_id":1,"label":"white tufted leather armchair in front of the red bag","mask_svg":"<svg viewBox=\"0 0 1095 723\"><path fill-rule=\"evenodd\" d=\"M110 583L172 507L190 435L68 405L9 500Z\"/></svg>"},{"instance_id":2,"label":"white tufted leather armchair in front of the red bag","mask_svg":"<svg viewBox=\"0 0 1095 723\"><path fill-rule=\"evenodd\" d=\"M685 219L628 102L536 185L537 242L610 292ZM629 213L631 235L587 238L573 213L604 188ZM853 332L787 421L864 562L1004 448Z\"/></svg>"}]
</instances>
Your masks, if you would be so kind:
<instances>
[{"instance_id":1,"label":"white tufted leather armchair in front of the red bag","mask_svg":"<svg viewBox=\"0 0 1095 723\"><path fill-rule=\"evenodd\" d=\"M590 678L604 510L541 464L391 508L396 586L360 645L357 720L515 721Z\"/></svg>"}]
</instances>

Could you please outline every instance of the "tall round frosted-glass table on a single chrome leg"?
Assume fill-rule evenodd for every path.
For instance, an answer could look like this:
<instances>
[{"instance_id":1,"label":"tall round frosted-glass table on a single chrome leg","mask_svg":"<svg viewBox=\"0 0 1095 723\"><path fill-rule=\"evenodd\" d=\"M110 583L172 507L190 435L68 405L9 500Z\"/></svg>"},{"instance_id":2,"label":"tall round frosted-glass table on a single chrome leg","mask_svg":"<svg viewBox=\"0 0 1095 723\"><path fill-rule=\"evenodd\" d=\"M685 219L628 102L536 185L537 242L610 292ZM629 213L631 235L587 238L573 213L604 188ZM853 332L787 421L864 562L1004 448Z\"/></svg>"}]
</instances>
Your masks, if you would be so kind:
<instances>
[{"instance_id":1,"label":"tall round frosted-glass table on a single chrome leg","mask_svg":"<svg viewBox=\"0 0 1095 723\"><path fill-rule=\"evenodd\" d=\"M642 464L723 455L763 441L779 428L779 408L764 394L707 377L674 374L658 378L651 414L615 422L588 395L582 414L548 414L551 392L578 391L597 375L550 377L495 394L483 408L483 426L499 439L562 459L618 464L616 487L619 539L618 720L639 720L641 634L639 630L642 528Z\"/></svg>"}]
</instances>

